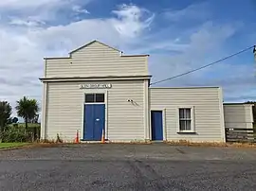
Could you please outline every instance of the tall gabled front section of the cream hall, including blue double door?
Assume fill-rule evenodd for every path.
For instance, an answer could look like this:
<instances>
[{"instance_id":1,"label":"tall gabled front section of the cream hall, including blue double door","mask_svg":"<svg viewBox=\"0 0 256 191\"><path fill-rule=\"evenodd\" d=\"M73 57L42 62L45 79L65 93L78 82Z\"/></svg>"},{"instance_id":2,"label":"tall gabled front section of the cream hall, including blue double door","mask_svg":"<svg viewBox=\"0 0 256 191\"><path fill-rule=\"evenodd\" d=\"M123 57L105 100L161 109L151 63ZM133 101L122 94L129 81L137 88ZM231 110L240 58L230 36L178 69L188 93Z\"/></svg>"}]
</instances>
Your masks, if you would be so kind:
<instances>
[{"instance_id":1,"label":"tall gabled front section of the cream hall, including blue double door","mask_svg":"<svg viewBox=\"0 0 256 191\"><path fill-rule=\"evenodd\" d=\"M123 56L98 41L46 58L42 139L149 139L148 55ZM128 101L129 100L129 101Z\"/></svg>"}]
</instances>

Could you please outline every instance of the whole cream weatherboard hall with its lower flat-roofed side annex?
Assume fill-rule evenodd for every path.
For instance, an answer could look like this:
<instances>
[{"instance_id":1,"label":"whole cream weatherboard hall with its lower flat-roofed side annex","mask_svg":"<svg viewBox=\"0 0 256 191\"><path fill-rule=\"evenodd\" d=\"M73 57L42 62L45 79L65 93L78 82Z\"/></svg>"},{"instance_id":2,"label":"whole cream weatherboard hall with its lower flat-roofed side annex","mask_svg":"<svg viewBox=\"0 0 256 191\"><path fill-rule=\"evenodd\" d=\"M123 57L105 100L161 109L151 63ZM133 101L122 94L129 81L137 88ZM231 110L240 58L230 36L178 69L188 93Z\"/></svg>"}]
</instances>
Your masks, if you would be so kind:
<instances>
[{"instance_id":1,"label":"whole cream weatherboard hall with its lower flat-roofed side annex","mask_svg":"<svg viewBox=\"0 0 256 191\"><path fill-rule=\"evenodd\" d=\"M150 88L148 55L94 41L45 61L42 139L225 142L221 88Z\"/></svg>"}]
</instances>

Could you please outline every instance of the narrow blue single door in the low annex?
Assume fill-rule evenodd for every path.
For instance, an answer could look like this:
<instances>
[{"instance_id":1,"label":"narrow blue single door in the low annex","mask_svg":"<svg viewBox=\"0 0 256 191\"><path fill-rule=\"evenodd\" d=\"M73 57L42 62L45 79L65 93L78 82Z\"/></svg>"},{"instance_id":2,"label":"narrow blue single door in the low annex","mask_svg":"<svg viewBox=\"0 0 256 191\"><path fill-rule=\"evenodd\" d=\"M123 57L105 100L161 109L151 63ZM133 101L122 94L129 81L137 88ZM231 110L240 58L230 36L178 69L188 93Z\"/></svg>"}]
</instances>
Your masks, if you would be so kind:
<instances>
[{"instance_id":1,"label":"narrow blue single door in the low annex","mask_svg":"<svg viewBox=\"0 0 256 191\"><path fill-rule=\"evenodd\" d=\"M151 111L152 140L163 140L163 114L162 111Z\"/></svg>"}]
</instances>

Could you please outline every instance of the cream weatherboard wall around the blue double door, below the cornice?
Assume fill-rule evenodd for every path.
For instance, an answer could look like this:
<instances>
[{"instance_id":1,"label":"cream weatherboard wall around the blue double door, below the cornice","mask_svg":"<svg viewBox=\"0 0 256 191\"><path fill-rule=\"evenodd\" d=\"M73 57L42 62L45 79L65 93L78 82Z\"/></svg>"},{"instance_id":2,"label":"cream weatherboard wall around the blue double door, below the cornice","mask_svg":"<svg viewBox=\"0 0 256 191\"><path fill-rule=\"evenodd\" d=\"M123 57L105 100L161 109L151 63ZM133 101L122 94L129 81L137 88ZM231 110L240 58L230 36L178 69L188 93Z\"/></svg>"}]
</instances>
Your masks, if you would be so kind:
<instances>
[{"instance_id":1,"label":"cream weatherboard wall around the blue double door, below the cornice","mask_svg":"<svg viewBox=\"0 0 256 191\"><path fill-rule=\"evenodd\" d=\"M106 90L80 89L80 84L111 83ZM76 130L83 131L85 93L107 91L107 138L110 141L145 140L144 86L147 80L48 82L46 139L73 141ZM128 102L133 99L135 104ZM81 137L82 138L82 137Z\"/></svg>"}]
</instances>

